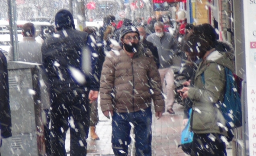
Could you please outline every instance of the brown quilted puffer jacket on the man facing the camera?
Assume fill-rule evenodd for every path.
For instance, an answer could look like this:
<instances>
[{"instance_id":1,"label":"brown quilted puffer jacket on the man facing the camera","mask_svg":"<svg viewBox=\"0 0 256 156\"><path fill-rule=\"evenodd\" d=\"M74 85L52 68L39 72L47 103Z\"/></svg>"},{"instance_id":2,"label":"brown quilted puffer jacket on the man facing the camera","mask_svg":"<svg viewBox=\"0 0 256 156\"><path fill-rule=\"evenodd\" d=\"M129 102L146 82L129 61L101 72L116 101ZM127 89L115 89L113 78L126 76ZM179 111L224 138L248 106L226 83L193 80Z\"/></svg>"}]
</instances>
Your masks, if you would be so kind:
<instances>
[{"instance_id":1,"label":"brown quilted puffer jacket on the man facing the camera","mask_svg":"<svg viewBox=\"0 0 256 156\"><path fill-rule=\"evenodd\" d=\"M151 90L151 91L150 91ZM161 80L148 49L140 46L130 58L120 46L106 55L100 77L100 106L102 111L135 112L151 106L164 112Z\"/></svg>"}]
</instances>

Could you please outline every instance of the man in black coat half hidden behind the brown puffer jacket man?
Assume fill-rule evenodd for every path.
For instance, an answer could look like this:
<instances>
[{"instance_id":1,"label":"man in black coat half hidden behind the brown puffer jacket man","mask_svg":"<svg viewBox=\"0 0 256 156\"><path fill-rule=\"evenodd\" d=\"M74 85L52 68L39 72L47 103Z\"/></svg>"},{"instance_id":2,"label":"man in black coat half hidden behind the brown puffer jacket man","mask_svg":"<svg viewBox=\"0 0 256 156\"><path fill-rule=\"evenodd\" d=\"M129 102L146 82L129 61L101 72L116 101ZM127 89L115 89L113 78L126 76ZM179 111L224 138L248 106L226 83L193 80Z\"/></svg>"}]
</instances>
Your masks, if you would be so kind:
<instances>
[{"instance_id":1,"label":"man in black coat half hidden behind the brown puffer jacket man","mask_svg":"<svg viewBox=\"0 0 256 156\"><path fill-rule=\"evenodd\" d=\"M139 33L140 33L141 43L143 44L144 48L148 48L152 52L152 54L154 56L154 61L156 62L156 66L157 66L157 68L159 68L160 62L159 62L157 47L154 46L154 44L152 42L149 42L146 40L146 30L143 26L138 26L137 29L139 30Z\"/></svg>"}]
</instances>

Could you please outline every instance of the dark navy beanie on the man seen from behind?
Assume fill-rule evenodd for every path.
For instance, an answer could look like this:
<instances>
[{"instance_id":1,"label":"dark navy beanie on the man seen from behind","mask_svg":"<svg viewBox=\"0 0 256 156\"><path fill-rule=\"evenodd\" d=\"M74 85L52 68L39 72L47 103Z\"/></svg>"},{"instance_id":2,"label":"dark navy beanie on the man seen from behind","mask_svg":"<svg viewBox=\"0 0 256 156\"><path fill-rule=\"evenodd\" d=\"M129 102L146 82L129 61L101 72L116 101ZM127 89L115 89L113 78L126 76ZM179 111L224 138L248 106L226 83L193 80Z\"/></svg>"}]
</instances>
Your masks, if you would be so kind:
<instances>
[{"instance_id":1,"label":"dark navy beanie on the man seen from behind","mask_svg":"<svg viewBox=\"0 0 256 156\"><path fill-rule=\"evenodd\" d=\"M55 15L55 25L57 30L65 28L75 29L74 18L69 10L61 9Z\"/></svg>"}]
</instances>

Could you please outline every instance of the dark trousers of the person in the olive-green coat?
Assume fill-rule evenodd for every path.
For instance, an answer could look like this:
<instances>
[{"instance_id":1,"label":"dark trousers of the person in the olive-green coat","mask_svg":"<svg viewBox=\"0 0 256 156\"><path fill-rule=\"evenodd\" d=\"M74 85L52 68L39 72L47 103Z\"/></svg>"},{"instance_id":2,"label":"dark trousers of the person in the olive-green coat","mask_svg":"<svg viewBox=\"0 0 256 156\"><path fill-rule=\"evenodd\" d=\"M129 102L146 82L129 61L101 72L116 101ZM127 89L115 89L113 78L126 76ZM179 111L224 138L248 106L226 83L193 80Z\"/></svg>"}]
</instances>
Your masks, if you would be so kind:
<instances>
[{"instance_id":1,"label":"dark trousers of the person in the olive-green coat","mask_svg":"<svg viewBox=\"0 0 256 156\"><path fill-rule=\"evenodd\" d=\"M219 134L195 134L191 148L191 156L226 156L226 145ZM215 138L215 141L210 138Z\"/></svg>"}]
</instances>

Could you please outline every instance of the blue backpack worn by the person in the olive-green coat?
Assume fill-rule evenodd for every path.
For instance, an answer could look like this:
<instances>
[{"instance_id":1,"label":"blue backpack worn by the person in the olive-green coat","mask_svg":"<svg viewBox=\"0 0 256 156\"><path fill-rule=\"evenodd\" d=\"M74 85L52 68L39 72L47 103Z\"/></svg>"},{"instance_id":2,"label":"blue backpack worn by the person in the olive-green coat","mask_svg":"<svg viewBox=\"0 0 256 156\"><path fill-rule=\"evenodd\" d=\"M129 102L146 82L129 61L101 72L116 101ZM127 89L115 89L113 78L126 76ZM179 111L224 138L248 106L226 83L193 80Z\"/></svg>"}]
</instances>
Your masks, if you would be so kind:
<instances>
[{"instance_id":1,"label":"blue backpack worn by the person in the olive-green coat","mask_svg":"<svg viewBox=\"0 0 256 156\"><path fill-rule=\"evenodd\" d=\"M226 83L224 88L224 99L219 101L219 109L221 110L223 117L226 120L227 127L227 140L231 141L234 137L233 128L242 126L242 112L241 112L241 100L237 85L237 78L227 67L225 69ZM236 76L236 79L234 77ZM205 84L205 76L202 73L202 81ZM240 79L241 80L241 79Z\"/></svg>"}]
</instances>

